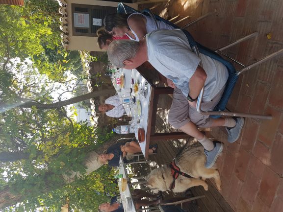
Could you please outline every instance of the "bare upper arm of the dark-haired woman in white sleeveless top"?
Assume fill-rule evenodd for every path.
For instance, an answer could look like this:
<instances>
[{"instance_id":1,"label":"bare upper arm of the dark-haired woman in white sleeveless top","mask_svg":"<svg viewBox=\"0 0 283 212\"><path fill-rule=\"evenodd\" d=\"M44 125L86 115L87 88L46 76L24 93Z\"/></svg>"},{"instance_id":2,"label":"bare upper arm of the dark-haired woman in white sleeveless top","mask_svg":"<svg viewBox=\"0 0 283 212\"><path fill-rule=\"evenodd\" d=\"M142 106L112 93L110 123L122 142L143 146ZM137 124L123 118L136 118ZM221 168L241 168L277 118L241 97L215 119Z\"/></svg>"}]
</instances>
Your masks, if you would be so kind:
<instances>
[{"instance_id":1,"label":"bare upper arm of the dark-haired woman in white sleeveless top","mask_svg":"<svg viewBox=\"0 0 283 212\"><path fill-rule=\"evenodd\" d=\"M131 15L128 19L128 25L135 32L139 40L142 40L147 34L146 20L142 15Z\"/></svg>"}]
</instances>

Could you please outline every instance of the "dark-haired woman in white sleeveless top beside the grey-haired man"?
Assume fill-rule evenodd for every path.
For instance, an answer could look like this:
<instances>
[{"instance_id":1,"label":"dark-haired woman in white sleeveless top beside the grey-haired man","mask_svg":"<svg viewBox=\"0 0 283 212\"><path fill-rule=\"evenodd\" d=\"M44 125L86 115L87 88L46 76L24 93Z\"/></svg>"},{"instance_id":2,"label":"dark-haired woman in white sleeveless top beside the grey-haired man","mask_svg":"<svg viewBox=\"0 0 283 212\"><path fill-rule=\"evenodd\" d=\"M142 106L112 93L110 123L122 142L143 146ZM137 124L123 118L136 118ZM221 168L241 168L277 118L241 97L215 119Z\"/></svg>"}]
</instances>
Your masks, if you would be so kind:
<instances>
[{"instance_id":1,"label":"dark-haired woman in white sleeveless top beside the grey-haired man","mask_svg":"<svg viewBox=\"0 0 283 212\"><path fill-rule=\"evenodd\" d=\"M159 29L174 29L173 26L156 20ZM104 18L104 27L113 37L122 37L127 35L130 40L139 41L144 36L156 30L152 17L141 13L108 14Z\"/></svg>"}]
</instances>

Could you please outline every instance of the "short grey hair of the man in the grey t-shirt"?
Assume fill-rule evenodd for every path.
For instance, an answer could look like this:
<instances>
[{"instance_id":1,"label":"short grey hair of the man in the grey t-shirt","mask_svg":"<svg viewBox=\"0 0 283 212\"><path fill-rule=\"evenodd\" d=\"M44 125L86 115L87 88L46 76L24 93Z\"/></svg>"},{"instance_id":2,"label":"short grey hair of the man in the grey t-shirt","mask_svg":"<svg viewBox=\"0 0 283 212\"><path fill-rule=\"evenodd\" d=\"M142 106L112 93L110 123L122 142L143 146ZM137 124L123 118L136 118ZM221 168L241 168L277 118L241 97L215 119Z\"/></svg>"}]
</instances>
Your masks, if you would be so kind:
<instances>
[{"instance_id":1,"label":"short grey hair of the man in the grey t-shirt","mask_svg":"<svg viewBox=\"0 0 283 212\"><path fill-rule=\"evenodd\" d=\"M124 60L132 59L136 56L139 47L138 41L118 40L113 41L107 50L108 59L110 62L118 67L123 68Z\"/></svg>"}]
</instances>

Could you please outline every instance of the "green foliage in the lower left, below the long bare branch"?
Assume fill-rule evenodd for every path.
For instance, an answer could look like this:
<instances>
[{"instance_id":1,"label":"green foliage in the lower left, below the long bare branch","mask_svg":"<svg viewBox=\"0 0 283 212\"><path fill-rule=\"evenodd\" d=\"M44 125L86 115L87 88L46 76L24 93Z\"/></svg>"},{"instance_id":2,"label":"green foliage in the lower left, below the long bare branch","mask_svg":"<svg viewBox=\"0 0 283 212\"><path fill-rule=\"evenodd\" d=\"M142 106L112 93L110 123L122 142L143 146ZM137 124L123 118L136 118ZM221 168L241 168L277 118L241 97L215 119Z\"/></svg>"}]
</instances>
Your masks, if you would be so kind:
<instances>
[{"instance_id":1,"label":"green foliage in the lower left, below the long bare branch","mask_svg":"<svg viewBox=\"0 0 283 212\"><path fill-rule=\"evenodd\" d=\"M15 195L25 197L23 204L5 211L34 211L38 207L58 211L69 198L72 209L88 212L117 192L112 180L114 173L108 174L106 167L67 185L62 178L69 170L85 173L81 164L86 154L111 139L113 134L84 122L74 122L70 132L69 120L58 110L32 108L29 113L21 113L13 109L2 113L0 119L2 151L20 148L29 153L28 159L1 164L1 171L7 176L0 182L3 185L8 182Z\"/></svg>"}]
</instances>

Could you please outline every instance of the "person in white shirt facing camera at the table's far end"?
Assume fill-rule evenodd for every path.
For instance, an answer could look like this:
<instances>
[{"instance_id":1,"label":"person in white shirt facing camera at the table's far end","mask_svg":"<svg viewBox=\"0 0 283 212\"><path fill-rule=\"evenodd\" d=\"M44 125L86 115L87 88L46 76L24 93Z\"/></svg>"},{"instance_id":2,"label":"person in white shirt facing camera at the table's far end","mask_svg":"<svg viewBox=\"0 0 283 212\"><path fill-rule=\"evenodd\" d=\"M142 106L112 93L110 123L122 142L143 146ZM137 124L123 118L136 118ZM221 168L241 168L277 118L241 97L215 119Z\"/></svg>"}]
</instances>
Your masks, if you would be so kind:
<instances>
[{"instance_id":1,"label":"person in white shirt facing camera at the table's far end","mask_svg":"<svg viewBox=\"0 0 283 212\"><path fill-rule=\"evenodd\" d=\"M126 111L123 104L120 103L118 95L112 95L105 100L105 104L99 105L98 110L105 112L108 117L119 118L122 117Z\"/></svg>"}]
</instances>

